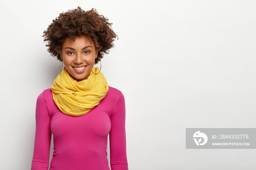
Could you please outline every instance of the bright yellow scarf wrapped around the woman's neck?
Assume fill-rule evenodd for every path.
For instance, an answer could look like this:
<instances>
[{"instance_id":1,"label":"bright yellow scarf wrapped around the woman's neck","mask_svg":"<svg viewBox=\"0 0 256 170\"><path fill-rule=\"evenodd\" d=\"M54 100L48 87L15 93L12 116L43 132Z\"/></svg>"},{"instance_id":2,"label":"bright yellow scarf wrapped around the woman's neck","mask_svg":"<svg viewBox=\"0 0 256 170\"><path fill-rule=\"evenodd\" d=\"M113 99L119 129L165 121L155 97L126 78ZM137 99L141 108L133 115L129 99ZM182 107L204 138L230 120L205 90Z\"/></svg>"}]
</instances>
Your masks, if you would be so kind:
<instances>
[{"instance_id":1,"label":"bright yellow scarf wrapped around the woman's neck","mask_svg":"<svg viewBox=\"0 0 256 170\"><path fill-rule=\"evenodd\" d=\"M98 73L99 68L93 67L92 71ZM101 72L91 72L86 80L76 81L65 67L51 87L55 104L63 113L72 116L88 113L106 96L108 89L108 83Z\"/></svg>"}]
</instances>

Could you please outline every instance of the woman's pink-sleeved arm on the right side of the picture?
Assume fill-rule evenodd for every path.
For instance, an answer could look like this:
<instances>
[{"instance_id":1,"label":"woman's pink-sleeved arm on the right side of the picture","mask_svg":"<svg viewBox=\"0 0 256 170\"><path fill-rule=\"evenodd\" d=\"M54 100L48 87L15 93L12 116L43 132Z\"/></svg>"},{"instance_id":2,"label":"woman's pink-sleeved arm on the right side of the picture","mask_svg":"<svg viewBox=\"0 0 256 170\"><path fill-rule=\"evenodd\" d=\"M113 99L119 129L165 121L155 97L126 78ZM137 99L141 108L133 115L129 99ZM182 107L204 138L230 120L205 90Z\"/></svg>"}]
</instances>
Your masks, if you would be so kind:
<instances>
[{"instance_id":1,"label":"woman's pink-sleeved arm on the right side of the picture","mask_svg":"<svg viewBox=\"0 0 256 170\"><path fill-rule=\"evenodd\" d=\"M121 92L120 92L121 93ZM128 170L125 136L125 101L121 93L110 117L110 166L112 170Z\"/></svg>"}]
</instances>

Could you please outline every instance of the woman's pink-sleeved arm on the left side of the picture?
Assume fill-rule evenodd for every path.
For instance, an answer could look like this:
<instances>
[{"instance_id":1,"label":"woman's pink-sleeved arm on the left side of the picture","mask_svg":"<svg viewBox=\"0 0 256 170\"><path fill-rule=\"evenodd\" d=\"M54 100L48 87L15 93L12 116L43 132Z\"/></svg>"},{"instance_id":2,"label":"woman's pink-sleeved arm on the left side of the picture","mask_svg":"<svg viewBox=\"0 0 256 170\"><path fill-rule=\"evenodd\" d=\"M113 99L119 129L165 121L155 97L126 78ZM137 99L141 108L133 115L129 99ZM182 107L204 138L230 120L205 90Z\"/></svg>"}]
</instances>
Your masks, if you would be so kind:
<instances>
[{"instance_id":1,"label":"woman's pink-sleeved arm on the left side of the picture","mask_svg":"<svg viewBox=\"0 0 256 170\"><path fill-rule=\"evenodd\" d=\"M35 109L35 143L31 170L48 170L52 137L50 121L51 117L43 92L37 98Z\"/></svg>"}]
</instances>

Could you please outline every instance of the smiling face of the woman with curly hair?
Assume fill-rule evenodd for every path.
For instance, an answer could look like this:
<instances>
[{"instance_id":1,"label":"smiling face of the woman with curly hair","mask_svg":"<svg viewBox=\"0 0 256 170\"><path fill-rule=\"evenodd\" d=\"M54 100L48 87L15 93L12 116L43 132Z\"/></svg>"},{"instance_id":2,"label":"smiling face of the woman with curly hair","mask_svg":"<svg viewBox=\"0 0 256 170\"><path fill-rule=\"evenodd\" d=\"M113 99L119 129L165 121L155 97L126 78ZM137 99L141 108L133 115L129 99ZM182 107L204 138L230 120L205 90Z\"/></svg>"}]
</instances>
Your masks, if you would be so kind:
<instances>
[{"instance_id":1,"label":"smiling face of the woman with curly hair","mask_svg":"<svg viewBox=\"0 0 256 170\"><path fill-rule=\"evenodd\" d=\"M63 59L68 73L75 80L85 80L90 76L98 51L95 50L94 43L88 39L87 35L79 35L73 41L67 37L62 45L60 57Z\"/></svg>"}]
</instances>

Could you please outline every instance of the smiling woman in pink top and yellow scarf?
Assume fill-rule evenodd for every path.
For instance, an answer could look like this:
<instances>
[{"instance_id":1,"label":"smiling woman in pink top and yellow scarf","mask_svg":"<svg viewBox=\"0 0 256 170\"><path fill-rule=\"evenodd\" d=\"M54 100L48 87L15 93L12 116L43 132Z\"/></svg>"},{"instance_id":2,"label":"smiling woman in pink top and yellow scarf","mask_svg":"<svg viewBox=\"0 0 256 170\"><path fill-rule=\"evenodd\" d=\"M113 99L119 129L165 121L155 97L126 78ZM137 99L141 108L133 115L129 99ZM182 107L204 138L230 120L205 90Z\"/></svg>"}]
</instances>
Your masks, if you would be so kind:
<instances>
[{"instance_id":1,"label":"smiling woman in pink top and yellow scarf","mask_svg":"<svg viewBox=\"0 0 256 170\"><path fill-rule=\"evenodd\" d=\"M123 94L93 67L117 37L95 9L61 13L44 31L48 51L64 63L50 89L37 99L32 170L127 170ZM62 64L61 64L62 65Z\"/></svg>"}]
</instances>

